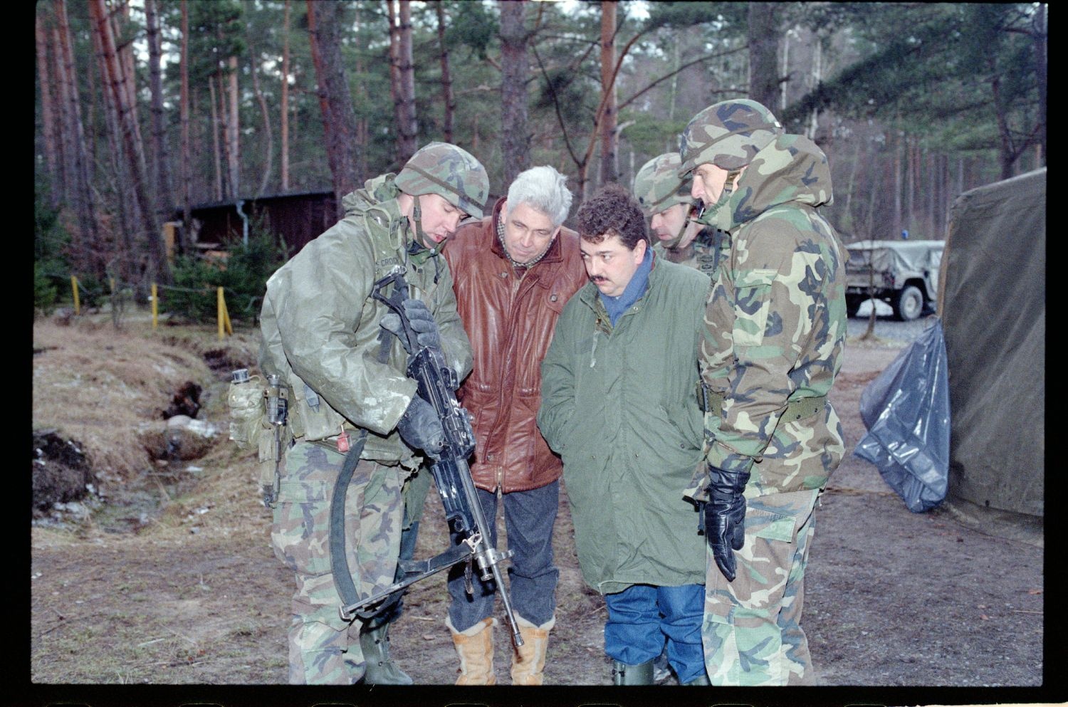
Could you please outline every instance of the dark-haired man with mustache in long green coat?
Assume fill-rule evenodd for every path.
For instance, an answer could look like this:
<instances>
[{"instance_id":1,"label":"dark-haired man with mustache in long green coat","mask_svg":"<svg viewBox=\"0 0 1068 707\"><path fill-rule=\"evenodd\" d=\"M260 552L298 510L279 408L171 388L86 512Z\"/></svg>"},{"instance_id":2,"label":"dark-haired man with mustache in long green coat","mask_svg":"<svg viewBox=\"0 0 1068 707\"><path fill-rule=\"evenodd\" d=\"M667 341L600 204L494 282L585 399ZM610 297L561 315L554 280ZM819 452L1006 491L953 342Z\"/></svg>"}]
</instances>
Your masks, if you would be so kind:
<instances>
[{"instance_id":1,"label":"dark-haired man with mustache in long green coat","mask_svg":"<svg viewBox=\"0 0 1068 707\"><path fill-rule=\"evenodd\" d=\"M702 456L697 351L710 281L657 257L638 202L610 184L579 209L590 284L541 364L538 426L564 461L579 566L604 595L616 685L653 685L664 646L708 685L704 545L682 498Z\"/></svg>"}]
</instances>

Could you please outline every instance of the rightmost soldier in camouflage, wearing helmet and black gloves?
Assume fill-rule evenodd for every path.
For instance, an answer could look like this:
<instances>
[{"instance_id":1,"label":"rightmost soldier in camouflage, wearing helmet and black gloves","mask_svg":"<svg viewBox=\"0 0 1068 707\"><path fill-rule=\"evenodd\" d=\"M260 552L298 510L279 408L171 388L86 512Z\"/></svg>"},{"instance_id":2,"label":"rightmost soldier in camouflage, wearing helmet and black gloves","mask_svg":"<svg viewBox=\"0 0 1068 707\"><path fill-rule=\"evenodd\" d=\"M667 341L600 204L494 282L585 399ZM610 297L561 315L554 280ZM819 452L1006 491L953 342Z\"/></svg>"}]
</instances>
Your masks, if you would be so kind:
<instances>
[{"instance_id":1,"label":"rightmost soldier in camouflage, wearing helmet and black gloves","mask_svg":"<svg viewBox=\"0 0 1068 707\"><path fill-rule=\"evenodd\" d=\"M753 100L697 113L679 155L701 221L731 238L701 349L707 473L687 491L709 544L706 666L712 685L811 684L800 620L813 510L845 451L827 399L846 339L845 251L817 211L831 173Z\"/></svg>"}]
</instances>

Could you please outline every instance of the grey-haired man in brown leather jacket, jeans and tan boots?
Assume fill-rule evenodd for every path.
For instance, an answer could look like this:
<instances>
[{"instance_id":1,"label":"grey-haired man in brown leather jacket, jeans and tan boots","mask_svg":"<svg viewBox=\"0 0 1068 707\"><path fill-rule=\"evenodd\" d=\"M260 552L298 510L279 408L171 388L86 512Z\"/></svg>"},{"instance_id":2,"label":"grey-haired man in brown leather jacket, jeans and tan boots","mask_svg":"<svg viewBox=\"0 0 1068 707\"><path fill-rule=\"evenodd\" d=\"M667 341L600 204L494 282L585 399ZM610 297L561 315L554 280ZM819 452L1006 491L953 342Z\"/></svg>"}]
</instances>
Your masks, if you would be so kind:
<instances>
[{"instance_id":1,"label":"grey-haired man in brown leather jacket, jeans and tan boots","mask_svg":"<svg viewBox=\"0 0 1068 707\"><path fill-rule=\"evenodd\" d=\"M474 417L471 475L494 547L498 499L503 500L514 552L508 591L523 645L513 651L513 685L541 684L555 624L560 571L552 560L552 527L563 466L538 431L537 411L541 359L556 317L586 282L579 237L561 225L570 205L566 177L551 167L535 167L516 177L491 216L461 226L443 251L474 356L458 393ZM467 586L462 569L454 568L445 625L460 659L456 684L494 685L494 587L477 572L470 577L473 591Z\"/></svg>"}]
</instances>

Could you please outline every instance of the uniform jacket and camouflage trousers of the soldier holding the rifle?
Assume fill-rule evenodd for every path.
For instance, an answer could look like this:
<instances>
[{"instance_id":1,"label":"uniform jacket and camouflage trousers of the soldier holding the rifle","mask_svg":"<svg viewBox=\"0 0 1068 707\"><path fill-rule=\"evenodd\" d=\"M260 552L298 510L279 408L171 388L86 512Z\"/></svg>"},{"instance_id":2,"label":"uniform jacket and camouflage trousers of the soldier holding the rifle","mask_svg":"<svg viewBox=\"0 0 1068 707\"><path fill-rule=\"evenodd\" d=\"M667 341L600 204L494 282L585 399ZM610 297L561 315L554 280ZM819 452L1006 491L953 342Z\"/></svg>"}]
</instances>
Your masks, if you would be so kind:
<instances>
[{"instance_id":1,"label":"uniform jacket and camouflage trousers of the soldier holding the rifle","mask_svg":"<svg viewBox=\"0 0 1068 707\"><path fill-rule=\"evenodd\" d=\"M481 169L481 168L480 168ZM345 218L305 245L267 281L260 316L260 367L281 375L292 391L288 450L271 534L276 554L295 572L289 679L351 684L363 675L361 620L344 622L329 566L328 515L344 465L339 435L355 445L366 433L361 461L345 498L346 547L358 588L393 581L403 522L402 484L419 467L396 424L417 383L408 355L383 333L386 304L374 283L402 271L409 296L426 302L445 361L462 378L471 344L456 312L444 257L415 258L409 220L400 213L392 174L345 195ZM383 584L384 582L384 584Z\"/></svg>"}]
</instances>

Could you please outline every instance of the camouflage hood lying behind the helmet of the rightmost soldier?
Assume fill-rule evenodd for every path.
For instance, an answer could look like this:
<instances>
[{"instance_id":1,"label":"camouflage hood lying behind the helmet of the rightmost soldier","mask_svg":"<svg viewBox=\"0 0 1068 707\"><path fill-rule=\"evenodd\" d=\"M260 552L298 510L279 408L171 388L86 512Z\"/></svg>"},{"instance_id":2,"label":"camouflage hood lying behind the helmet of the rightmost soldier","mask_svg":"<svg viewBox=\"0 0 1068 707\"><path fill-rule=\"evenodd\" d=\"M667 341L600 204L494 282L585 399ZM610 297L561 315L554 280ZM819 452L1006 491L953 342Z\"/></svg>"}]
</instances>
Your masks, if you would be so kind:
<instances>
[{"instance_id":1,"label":"camouflage hood lying behind the helmet of the rightmost soldier","mask_svg":"<svg viewBox=\"0 0 1068 707\"><path fill-rule=\"evenodd\" d=\"M786 203L832 203L831 168L819 146L800 135L781 135L761 150L738 178L725 208L731 231Z\"/></svg>"}]
</instances>

